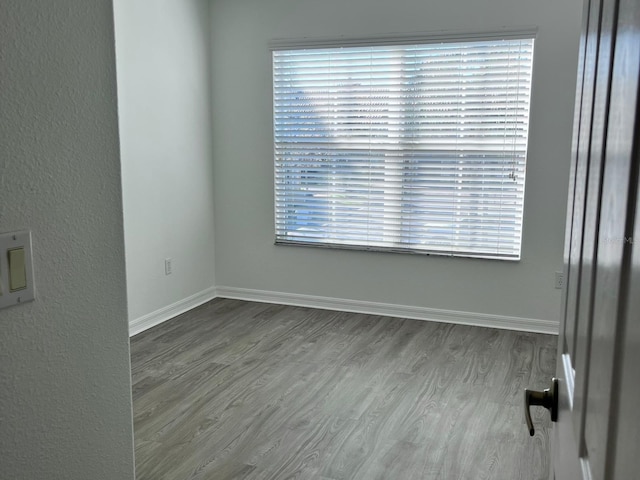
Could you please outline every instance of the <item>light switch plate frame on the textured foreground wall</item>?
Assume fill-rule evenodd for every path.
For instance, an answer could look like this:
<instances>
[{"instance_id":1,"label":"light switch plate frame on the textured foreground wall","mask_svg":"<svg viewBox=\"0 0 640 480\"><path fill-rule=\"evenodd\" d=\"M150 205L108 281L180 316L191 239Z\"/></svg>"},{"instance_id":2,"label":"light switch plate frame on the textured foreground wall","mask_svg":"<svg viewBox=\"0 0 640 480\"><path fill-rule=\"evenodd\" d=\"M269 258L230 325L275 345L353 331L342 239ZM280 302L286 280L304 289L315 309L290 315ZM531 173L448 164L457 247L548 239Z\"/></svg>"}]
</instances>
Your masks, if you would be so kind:
<instances>
[{"instance_id":1,"label":"light switch plate frame on the textured foreground wall","mask_svg":"<svg viewBox=\"0 0 640 480\"><path fill-rule=\"evenodd\" d=\"M9 252L19 248L24 249L24 274L27 285L26 288L12 292L9 286ZM0 234L0 308L33 301L35 292L31 232L25 230Z\"/></svg>"}]
</instances>

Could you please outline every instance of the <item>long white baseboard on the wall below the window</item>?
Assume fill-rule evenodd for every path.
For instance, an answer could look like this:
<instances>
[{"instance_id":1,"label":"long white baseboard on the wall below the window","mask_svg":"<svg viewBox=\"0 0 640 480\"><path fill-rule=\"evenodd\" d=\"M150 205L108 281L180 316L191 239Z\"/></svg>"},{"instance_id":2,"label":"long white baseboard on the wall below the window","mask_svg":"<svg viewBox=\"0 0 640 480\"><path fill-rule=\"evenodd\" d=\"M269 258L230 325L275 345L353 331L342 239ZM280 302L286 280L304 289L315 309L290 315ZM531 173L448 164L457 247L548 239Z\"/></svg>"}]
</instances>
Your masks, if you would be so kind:
<instances>
[{"instance_id":1,"label":"long white baseboard on the wall below the window","mask_svg":"<svg viewBox=\"0 0 640 480\"><path fill-rule=\"evenodd\" d=\"M216 295L222 298L250 300L254 302L280 303L299 307L340 310L345 312L385 315L433 322L458 323L479 327L502 328L524 332L558 334L558 322L535 318L508 317L485 313L458 312L436 308L412 307L392 303L365 302L343 298L318 297L296 293L271 292L235 287L217 287Z\"/></svg>"}]
</instances>

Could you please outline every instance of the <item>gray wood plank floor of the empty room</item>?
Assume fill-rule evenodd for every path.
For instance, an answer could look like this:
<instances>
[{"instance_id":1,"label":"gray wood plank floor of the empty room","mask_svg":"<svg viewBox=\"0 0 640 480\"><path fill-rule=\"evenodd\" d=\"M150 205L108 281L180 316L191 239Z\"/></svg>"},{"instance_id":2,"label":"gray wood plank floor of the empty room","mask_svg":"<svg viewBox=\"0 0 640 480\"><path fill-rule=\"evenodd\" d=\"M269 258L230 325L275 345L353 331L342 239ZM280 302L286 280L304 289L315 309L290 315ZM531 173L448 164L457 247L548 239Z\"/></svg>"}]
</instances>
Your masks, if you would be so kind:
<instances>
[{"instance_id":1,"label":"gray wood plank floor of the empty room","mask_svg":"<svg viewBox=\"0 0 640 480\"><path fill-rule=\"evenodd\" d=\"M546 479L556 341L216 299L131 339L137 478Z\"/></svg>"}]
</instances>

